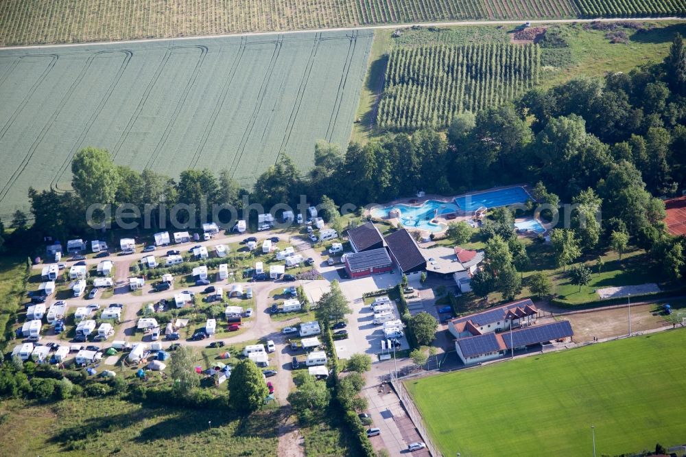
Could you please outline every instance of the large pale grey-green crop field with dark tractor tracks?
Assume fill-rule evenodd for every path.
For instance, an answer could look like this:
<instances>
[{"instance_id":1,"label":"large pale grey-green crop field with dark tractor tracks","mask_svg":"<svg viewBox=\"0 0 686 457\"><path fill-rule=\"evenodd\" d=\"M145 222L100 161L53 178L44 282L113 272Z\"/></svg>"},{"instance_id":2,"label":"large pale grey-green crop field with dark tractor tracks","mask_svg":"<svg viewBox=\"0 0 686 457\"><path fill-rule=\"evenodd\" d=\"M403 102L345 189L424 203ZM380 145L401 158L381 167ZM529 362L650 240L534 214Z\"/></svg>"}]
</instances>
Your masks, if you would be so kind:
<instances>
[{"instance_id":1,"label":"large pale grey-green crop field with dark tractor tracks","mask_svg":"<svg viewBox=\"0 0 686 457\"><path fill-rule=\"evenodd\" d=\"M318 139L348 142L371 43L351 31L0 51L0 214L26 207L29 186L67 189L86 145L243 185L282 154L307 169Z\"/></svg>"}]
</instances>

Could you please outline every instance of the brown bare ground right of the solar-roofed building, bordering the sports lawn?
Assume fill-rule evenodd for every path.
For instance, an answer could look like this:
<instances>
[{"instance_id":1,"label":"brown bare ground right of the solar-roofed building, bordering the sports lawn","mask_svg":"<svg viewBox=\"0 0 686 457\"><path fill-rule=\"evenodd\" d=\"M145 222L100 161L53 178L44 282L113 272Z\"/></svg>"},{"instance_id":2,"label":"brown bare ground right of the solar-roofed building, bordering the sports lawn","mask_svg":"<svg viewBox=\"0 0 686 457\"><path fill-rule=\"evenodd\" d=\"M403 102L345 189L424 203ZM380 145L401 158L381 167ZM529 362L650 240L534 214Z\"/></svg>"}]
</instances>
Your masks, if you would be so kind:
<instances>
[{"instance_id":1,"label":"brown bare ground right of the solar-roofed building, bordering the sports lawn","mask_svg":"<svg viewBox=\"0 0 686 457\"><path fill-rule=\"evenodd\" d=\"M657 329L667 325L664 316L652 311L655 305L631 307L631 331ZM613 338L628 333L628 308L601 309L598 311L558 316L571 323L575 342L592 341L593 337Z\"/></svg>"}]
</instances>

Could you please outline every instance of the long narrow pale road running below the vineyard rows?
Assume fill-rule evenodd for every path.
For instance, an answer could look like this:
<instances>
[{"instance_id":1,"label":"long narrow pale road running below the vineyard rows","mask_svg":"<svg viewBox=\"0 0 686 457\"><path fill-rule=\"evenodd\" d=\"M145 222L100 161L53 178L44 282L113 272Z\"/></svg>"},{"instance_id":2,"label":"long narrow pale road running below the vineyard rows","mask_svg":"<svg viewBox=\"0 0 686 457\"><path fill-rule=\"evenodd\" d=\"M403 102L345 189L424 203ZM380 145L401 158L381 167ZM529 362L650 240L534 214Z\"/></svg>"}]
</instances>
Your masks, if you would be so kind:
<instances>
[{"instance_id":1,"label":"long narrow pale road running below the vineyard rows","mask_svg":"<svg viewBox=\"0 0 686 457\"><path fill-rule=\"evenodd\" d=\"M686 19L680 17L627 17L627 18L598 18L598 19L532 19L529 22L532 24L563 24L563 23L578 23L578 22L619 22L619 21L685 21ZM283 35L283 34L303 34L303 33L320 33L320 32L349 32L352 30L395 30L405 27L458 27L469 25L520 25L524 22L523 19L519 21L445 21L445 22L414 22L414 23L397 23L397 24L383 24L383 25L365 25L361 27L335 27L331 29L307 29L307 30L283 30L281 32L249 32L246 34L222 34L222 35L204 35L204 36L181 36L179 38L149 38L145 40L123 40L123 41L101 41L96 43L71 43L61 45L31 45L31 46L10 46L0 47L2 49L43 49L56 48L67 46L97 46L97 45L129 45L133 43L154 43L156 41L185 41L185 40L205 40L208 38L223 38L225 36L269 36L269 35Z\"/></svg>"}]
</instances>

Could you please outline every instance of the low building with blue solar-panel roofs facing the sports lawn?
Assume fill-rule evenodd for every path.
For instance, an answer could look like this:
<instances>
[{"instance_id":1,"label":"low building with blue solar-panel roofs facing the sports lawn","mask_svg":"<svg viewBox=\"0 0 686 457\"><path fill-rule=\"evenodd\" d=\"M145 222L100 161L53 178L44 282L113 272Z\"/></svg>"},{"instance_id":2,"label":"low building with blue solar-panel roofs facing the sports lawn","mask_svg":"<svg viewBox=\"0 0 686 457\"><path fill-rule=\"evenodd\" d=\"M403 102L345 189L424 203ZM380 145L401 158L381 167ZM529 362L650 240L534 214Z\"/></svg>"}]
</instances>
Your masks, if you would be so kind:
<instances>
[{"instance_id":1,"label":"low building with blue solar-panel roofs facing the sports lawn","mask_svg":"<svg viewBox=\"0 0 686 457\"><path fill-rule=\"evenodd\" d=\"M574 332L569 320L525 327L502 333L485 333L455 340L455 350L464 364L475 364L507 355L514 349L525 349L536 344L565 341Z\"/></svg>"}]
</instances>

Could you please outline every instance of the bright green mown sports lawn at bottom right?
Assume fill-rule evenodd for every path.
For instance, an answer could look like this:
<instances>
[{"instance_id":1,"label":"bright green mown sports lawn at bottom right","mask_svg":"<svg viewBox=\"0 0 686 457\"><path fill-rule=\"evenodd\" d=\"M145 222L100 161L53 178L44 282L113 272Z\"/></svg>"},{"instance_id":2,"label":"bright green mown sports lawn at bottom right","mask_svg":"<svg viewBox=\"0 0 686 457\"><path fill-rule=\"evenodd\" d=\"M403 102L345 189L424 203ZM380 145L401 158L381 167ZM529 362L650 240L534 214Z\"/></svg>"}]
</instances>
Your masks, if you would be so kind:
<instances>
[{"instance_id":1,"label":"bright green mown sports lawn at bottom right","mask_svg":"<svg viewBox=\"0 0 686 457\"><path fill-rule=\"evenodd\" d=\"M683 443L686 330L407 382L445 456L598 455Z\"/></svg>"}]
</instances>

